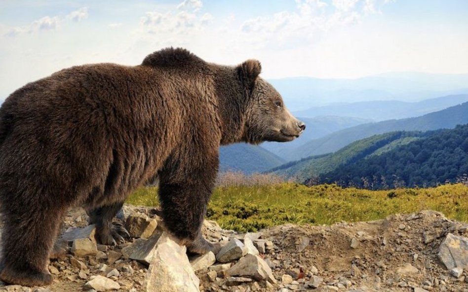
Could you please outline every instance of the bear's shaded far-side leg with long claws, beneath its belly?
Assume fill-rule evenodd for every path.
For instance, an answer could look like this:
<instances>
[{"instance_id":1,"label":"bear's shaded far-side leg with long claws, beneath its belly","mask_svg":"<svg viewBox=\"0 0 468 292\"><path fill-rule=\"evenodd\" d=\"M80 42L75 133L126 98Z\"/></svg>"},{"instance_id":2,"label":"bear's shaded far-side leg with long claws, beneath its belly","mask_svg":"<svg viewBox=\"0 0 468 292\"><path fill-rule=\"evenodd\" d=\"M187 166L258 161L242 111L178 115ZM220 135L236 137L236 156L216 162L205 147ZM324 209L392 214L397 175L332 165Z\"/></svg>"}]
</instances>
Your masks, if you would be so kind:
<instances>
[{"instance_id":1,"label":"bear's shaded far-side leg with long claws, beneath its belly","mask_svg":"<svg viewBox=\"0 0 468 292\"><path fill-rule=\"evenodd\" d=\"M96 225L96 239L106 245L117 245L124 243L124 238L130 237L128 231L119 221L113 221L123 202L87 210L89 224Z\"/></svg>"}]
</instances>

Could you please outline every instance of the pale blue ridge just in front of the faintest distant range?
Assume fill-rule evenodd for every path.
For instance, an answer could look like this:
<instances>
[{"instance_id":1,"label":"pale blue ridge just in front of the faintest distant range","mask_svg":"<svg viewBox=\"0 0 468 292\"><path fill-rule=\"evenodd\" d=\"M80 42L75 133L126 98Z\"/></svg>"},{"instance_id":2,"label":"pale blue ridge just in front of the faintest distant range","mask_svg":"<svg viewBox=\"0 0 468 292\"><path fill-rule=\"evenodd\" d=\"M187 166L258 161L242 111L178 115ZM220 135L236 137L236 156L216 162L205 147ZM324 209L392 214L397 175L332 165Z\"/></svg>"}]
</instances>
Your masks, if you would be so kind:
<instances>
[{"instance_id":1,"label":"pale blue ridge just in front of the faintest distant range","mask_svg":"<svg viewBox=\"0 0 468 292\"><path fill-rule=\"evenodd\" d=\"M468 101L468 94L436 97L417 102L373 100L334 103L293 112L299 117L343 116L371 119L376 122L422 116Z\"/></svg>"}]
</instances>

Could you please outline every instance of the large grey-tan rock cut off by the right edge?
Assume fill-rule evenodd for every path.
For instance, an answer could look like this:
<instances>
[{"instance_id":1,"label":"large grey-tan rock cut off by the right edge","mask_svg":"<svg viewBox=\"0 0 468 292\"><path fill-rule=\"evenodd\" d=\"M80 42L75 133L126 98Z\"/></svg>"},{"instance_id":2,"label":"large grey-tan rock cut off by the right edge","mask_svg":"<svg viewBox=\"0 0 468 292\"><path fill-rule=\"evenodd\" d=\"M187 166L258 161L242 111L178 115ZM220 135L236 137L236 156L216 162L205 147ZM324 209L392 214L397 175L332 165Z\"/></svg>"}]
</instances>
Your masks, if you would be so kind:
<instances>
[{"instance_id":1,"label":"large grey-tan rock cut off by the right edge","mask_svg":"<svg viewBox=\"0 0 468 292\"><path fill-rule=\"evenodd\" d=\"M468 269L468 238L448 233L437 256L448 270L455 267Z\"/></svg>"}]
</instances>

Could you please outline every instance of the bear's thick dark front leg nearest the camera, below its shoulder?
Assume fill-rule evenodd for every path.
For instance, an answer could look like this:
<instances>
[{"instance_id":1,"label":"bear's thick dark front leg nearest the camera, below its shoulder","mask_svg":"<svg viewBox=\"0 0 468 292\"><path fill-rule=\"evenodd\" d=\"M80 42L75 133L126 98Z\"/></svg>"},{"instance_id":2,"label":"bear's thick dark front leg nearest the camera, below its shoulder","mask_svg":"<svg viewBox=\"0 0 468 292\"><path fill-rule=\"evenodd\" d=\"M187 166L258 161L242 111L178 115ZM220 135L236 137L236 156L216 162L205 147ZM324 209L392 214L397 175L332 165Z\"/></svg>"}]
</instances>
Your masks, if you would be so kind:
<instances>
[{"instance_id":1,"label":"bear's thick dark front leg nearest the camera, below its shoulder","mask_svg":"<svg viewBox=\"0 0 468 292\"><path fill-rule=\"evenodd\" d=\"M190 253L205 254L218 249L206 241L201 227L213 190L218 168L218 157L186 168L174 167L180 163L168 162L160 173L159 200L164 225L177 236Z\"/></svg>"}]
</instances>

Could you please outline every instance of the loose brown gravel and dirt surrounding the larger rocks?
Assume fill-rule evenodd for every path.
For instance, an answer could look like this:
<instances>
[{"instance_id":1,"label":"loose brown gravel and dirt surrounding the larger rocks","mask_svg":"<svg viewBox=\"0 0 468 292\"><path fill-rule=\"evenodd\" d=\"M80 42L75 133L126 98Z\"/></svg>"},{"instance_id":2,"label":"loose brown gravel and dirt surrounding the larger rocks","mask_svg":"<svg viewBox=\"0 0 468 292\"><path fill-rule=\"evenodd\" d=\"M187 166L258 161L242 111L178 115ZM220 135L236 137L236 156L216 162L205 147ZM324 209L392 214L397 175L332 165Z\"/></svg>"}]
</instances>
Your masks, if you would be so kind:
<instances>
[{"instance_id":1,"label":"loose brown gravel and dirt surrounding the larger rocks","mask_svg":"<svg viewBox=\"0 0 468 292\"><path fill-rule=\"evenodd\" d=\"M125 206L124 213L126 216L146 214L158 220L158 228L163 226L154 208ZM85 227L86 220L83 210L70 211L62 229ZM467 224L449 220L434 211L332 226L283 225L255 234L260 240L273 242L260 257L272 268L276 283L245 277L233 281L223 272L213 276L209 267L196 271L196 275L200 279L200 291L208 292L468 292L467 271L454 277L437 257L448 233L468 236L467 230ZM205 222L203 233L209 240L223 244L237 235L214 222ZM122 253L131 241L115 247L98 245L98 255L79 257L69 253L51 260L49 270L54 274L54 283L48 287L3 283L0 291L92 292L85 283L96 275L117 282L120 288L114 291L144 291L148 267Z\"/></svg>"}]
</instances>

